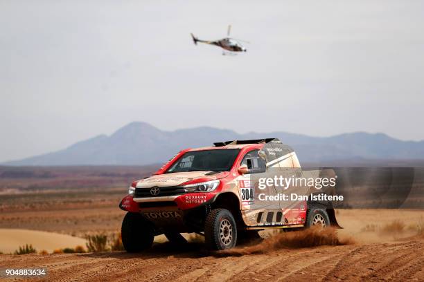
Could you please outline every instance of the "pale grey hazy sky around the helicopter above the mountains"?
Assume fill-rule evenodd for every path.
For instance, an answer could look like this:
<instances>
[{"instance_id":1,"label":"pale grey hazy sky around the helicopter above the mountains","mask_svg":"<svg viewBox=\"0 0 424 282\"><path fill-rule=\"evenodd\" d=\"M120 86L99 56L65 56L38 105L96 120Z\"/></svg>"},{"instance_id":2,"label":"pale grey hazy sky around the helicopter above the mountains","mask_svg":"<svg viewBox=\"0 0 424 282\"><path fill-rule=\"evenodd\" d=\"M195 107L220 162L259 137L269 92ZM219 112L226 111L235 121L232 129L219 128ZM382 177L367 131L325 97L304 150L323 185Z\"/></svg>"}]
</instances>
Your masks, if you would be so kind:
<instances>
[{"instance_id":1,"label":"pale grey hazy sky around the helicopter above the mountains","mask_svg":"<svg viewBox=\"0 0 424 282\"><path fill-rule=\"evenodd\" d=\"M247 53L191 41L229 23ZM424 139L424 1L0 0L0 35L0 161L136 120Z\"/></svg>"}]
</instances>

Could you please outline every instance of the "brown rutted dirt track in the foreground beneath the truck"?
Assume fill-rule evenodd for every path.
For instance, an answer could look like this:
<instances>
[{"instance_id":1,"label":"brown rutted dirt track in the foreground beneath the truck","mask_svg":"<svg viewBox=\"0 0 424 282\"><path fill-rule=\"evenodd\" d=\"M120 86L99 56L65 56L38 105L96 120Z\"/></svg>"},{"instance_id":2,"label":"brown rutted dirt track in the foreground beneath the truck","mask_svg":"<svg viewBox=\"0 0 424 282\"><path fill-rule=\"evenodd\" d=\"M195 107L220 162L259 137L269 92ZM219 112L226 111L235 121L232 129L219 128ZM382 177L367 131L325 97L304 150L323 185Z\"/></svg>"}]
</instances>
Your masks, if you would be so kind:
<instances>
[{"instance_id":1,"label":"brown rutted dirt track in the foreground beneath the truck","mask_svg":"<svg viewBox=\"0 0 424 282\"><path fill-rule=\"evenodd\" d=\"M198 250L169 251L168 247L136 255L3 255L0 267L46 267L46 281L424 281L422 241L283 249L227 257Z\"/></svg>"}]
</instances>

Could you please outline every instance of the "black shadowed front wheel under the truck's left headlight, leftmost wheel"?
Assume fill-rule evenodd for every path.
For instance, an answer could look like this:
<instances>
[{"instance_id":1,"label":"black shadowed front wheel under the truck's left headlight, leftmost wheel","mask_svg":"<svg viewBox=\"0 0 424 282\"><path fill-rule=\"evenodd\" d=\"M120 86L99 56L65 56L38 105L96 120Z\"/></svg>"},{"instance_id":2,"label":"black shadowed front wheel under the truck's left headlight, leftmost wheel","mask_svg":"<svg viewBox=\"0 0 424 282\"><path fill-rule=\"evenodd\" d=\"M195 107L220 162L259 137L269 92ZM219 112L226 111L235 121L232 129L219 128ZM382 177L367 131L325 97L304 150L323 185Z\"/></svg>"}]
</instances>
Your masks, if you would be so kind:
<instances>
[{"instance_id":1,"label":"black shadowed front wheel under the truck's left headlight, leftmost wheel","mask_svg":"<svg viewBox=\"0 0 424 282\"><path fill-rule=\"evenodd\" d=\"M127 212L122 221L122 245L127 252L141 252L152 247L153 226L141 214Z\"/></svg>"}]
</instances>

